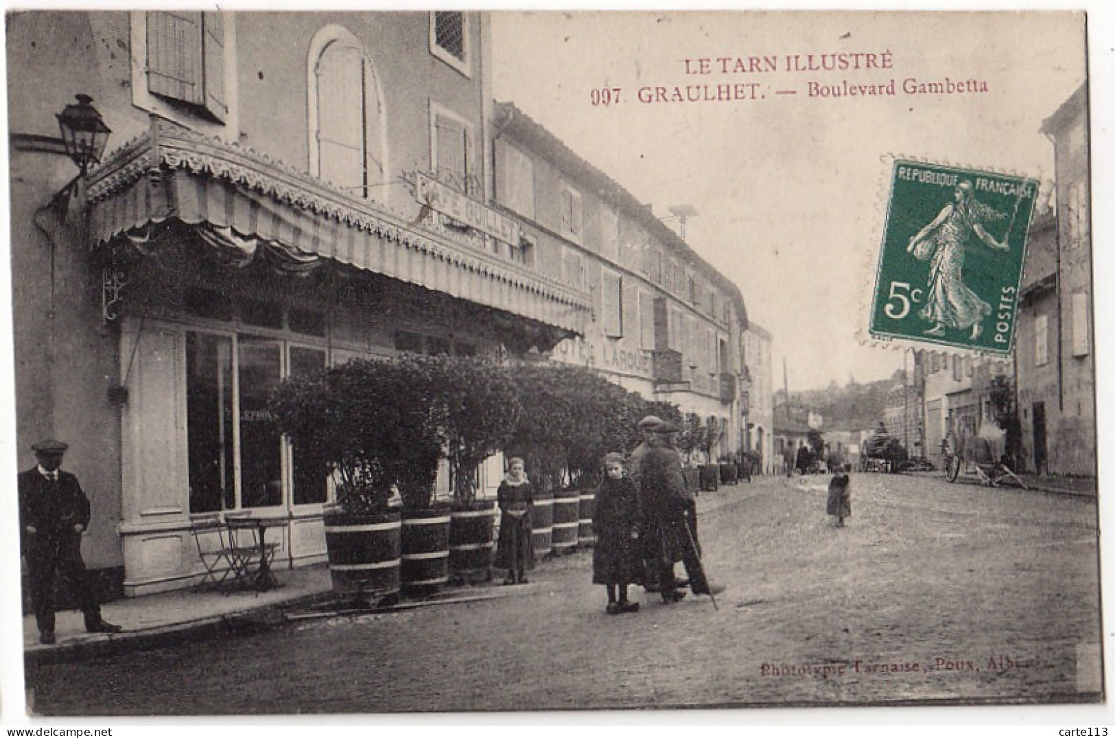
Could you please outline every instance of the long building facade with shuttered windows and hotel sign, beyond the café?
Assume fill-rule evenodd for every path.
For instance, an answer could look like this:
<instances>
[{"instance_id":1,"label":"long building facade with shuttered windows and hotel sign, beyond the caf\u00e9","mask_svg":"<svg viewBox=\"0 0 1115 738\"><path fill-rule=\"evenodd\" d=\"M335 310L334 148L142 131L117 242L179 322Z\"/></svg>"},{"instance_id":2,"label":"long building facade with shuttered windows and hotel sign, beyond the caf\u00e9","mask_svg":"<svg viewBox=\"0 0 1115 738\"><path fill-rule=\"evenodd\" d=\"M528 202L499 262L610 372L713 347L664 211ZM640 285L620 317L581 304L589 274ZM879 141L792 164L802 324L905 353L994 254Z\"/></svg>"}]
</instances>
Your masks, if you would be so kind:
<instances>
[{"instance_id":1,"label":"long building facade with shuttered windows and hotel sign, beyond the caf\u00e9","mask_svg":"<svg viewBox=\"0 0 1115 738\"><path fill-rule=\"evenodd\" d=\"M515 258L588 291L592 321L554 347L647 399L700 416L715 460L741 447L739 289L653 212L515 108L496 105L495 201L524 223Z\"/></svg>"}]
</instances>

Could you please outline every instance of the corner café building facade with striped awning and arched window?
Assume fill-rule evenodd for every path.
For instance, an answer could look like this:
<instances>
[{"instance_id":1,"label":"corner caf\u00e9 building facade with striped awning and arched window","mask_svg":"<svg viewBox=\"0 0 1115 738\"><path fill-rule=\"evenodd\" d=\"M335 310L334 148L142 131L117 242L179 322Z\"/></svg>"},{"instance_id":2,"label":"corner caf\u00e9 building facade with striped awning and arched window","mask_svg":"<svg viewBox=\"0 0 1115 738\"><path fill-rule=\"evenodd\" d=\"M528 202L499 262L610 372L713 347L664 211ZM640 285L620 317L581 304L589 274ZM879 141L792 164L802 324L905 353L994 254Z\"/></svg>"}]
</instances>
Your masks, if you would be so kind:
<instances>
[{"instance_id":1,"label":"corner caf\u00e9 building facade with striped awning and arched window","mask_svg":"<svg viewBox=\"0 0 1115 738\"><path fill-rule=\"evenodd\" d=\"M19 462L70 444L113 593L193 583L192 526L237 512L289 521L277 561L323 559L330 482L268 423L283 379L585 336L588 282L491 206L484 14L8 20ZM75 94L113 140L68 185L45 134Z\"/></svg>"}]
</instances>

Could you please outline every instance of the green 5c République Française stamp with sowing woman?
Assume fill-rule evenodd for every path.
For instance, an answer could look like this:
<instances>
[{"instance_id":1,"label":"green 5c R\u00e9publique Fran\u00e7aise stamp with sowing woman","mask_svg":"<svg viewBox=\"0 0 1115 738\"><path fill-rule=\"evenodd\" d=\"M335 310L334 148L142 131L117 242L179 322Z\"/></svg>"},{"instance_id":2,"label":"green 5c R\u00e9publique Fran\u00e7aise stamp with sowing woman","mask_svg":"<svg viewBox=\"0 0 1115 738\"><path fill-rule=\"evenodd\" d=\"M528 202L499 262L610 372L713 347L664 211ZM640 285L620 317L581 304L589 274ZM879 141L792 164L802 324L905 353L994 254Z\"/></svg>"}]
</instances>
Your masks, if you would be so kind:
<instances>
[{"instance_id":1,"label":"green 5c R\u00e9publique Fran\u00e7aise stamp with sowing woman","mask_svg":"<svg viewBox=\"0 0 1115 738\"><path fill-rule=\"evenodd\" d=\"M870 333L1009 353L1038 182L898 159Z\"/></svg>"}]
</instances>

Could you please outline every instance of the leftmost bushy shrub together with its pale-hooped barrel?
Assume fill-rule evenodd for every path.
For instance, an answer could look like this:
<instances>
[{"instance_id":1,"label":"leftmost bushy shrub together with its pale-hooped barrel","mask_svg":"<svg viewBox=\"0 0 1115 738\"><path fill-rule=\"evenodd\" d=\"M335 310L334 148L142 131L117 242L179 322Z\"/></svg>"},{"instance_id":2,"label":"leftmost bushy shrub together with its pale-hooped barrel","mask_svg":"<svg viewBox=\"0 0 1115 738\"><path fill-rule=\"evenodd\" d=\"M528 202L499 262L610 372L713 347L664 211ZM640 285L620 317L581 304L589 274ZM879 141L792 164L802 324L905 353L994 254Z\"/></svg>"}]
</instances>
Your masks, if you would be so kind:
<instances>
[{"instance_id":1,"label":"leftmost bushy shrub together with its pale-hooped barrel","mask_svg":"<svg viewBox=\"0 0 1115 738\"><path fill-rule=\"evenodd\" d=\"M333 590L392 602L400 515L388 503L414 474L410 455L436 438L428 394L399 361L357 359L284 381L271 410L298 457L332 474L324 526Z\"/></svg>"}]
</instances>

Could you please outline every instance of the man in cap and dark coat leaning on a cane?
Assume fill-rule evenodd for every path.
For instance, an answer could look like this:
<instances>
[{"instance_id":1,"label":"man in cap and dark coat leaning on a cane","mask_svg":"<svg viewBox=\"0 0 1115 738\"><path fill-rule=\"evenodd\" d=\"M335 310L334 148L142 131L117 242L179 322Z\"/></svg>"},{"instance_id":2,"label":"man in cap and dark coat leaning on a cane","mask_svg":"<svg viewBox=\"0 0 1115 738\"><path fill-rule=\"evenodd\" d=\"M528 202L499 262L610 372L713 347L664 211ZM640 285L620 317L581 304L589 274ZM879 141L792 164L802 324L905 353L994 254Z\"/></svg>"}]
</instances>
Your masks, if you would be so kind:
<instances>
[{"instance_id":1,"label":"man in cap and dark coat leaning on a cane","mask_svg":"<svg viewBox=\"0 0 1115 738\"><path fill-rule=\"evenodd\" d=\"M640 479L646 536L658 559L663 602L677 602L685 596L673 577L673 563L679 560L686 567L694 594L715 594L723 590L710 588L700 563L700 552L688 521L689 515L696 515L694 493L686 486L681 455L670 447L670 436L676 433L677 428L669 423L658 427L651 449L642 459Z\"/></svg>"}]
</instances>

